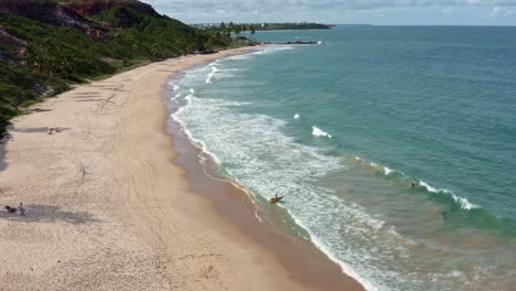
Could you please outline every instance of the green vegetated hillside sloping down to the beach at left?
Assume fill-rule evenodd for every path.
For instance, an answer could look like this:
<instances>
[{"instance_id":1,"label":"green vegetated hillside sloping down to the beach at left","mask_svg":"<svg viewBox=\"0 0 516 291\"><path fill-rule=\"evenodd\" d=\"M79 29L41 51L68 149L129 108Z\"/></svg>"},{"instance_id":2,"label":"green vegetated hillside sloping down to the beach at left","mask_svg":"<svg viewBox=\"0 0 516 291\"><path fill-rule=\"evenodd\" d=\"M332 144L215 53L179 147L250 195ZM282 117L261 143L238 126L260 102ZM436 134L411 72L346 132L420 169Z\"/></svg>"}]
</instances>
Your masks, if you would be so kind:
<instances>
[{"instance_id":1,"label":"green vegetated hillside sloping down to the beach at left","mask_svg":"<svg viewBox=\"0 0 516 291\"><path fill-rule=\"evenodd\" d=\"M139 1L62 2L0 0L0 131L24 106L69 84L236 45Z\"/></svg>"}]
</instances>

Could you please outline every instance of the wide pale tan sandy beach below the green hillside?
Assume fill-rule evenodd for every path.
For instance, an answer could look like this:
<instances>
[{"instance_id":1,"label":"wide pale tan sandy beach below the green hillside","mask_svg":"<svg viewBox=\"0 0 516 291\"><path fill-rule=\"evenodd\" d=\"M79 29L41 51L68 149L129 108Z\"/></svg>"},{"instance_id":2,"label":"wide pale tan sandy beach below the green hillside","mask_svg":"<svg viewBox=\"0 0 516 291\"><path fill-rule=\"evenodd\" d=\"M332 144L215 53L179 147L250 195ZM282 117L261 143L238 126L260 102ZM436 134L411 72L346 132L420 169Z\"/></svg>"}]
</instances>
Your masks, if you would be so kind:
<instances>
[{"instance_id":1,"label":"wide pale tan sandy beach below the green hillside","mask_svg":"<svg viewBox=\"0 0 516 291\"><path fill-rule=\"evenodd\" d=\"M176 163L166 82L247 50L152 63L14 119L0 148L0 290L361 290L321 254L303 261L320 265L299 266L295 254L308 247L279 256L268 246L277 240L243 231L256 222L228 223L238 216L195 194L212 188L192 183L196 161ZM20 203L25 217L4 209Z\"/></svg>"}]
</instances>

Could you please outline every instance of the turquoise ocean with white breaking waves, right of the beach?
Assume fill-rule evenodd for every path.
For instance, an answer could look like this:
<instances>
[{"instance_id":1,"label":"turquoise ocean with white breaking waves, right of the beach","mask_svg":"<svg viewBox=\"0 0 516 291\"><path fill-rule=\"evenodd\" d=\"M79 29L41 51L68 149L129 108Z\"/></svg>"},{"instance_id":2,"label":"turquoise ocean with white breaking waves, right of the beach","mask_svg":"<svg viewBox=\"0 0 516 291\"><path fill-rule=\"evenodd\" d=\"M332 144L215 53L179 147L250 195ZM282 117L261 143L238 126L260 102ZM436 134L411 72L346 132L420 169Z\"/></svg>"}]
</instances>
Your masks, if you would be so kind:
<instances>
[{"instance_id":1,"label":"turquoise ocean with white breaking waves, right of the beach","mask_svg":"<svg viewBox=\"0 0 516 291\"><path fill-rule=\"evenodd\" d=\"M337 26L172 80L171 116L368 290L516 290L516 29ZM417 186L410 188L415 181Z\"/></svg>"}]
</instances>

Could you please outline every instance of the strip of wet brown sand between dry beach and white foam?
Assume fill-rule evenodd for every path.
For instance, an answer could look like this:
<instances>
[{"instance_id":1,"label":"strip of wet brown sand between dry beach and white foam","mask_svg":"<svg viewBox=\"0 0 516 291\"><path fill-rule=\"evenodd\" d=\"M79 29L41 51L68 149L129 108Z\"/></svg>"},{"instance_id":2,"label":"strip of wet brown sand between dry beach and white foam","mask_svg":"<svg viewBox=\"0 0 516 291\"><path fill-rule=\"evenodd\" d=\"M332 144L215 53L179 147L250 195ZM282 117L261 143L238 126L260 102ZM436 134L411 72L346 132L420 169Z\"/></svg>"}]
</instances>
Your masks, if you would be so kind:
<instances>
[{"instance_id":1,"label":"strip of wet brown sand between dry beach and white foam","mask_svg":"<svg viewBox=\"0 0 516 291\"><path fill-rule=\"evenodd\" d=\"M166 93L172 95L171 90ZM163 99L166 101L166 96ZM169 114L178 109L172 108ZM273 206L258 209L250 194L238 182L217 176L217 165L211 157L205 160L206 164L201 163L200 155L204 152L192 143L178 121L169 119L168 123L174 137L175 162L186 169L193 192L208 197L228 224L271 250L291 278L310 287L310 290L364 290L356 279L344 273L312 241L288 228L281 219L283 209Z\"/></svg>"}]
</instances>

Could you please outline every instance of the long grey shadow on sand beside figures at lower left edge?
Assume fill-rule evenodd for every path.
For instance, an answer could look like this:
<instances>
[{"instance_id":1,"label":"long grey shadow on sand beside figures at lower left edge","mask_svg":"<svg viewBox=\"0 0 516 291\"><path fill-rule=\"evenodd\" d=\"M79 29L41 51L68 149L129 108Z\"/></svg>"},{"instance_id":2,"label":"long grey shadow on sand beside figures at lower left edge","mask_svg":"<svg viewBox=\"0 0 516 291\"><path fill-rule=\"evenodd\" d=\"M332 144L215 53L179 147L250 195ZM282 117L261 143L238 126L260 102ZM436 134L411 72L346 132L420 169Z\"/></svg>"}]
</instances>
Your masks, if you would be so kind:
<instances>
[{"instance_id":1,"label":"long grey shadow on sand beside figures at lower left edge","mask_svg":"<svg viewBox=\"0 0 516 291\"><path fill-rule=\"evenodd\" d=\"M29 223L64 222L68 224L86 224L100 222L87 212L65 212L61 211L60 207L52 205L26 205L25 211L25 216L20 217L20 213L18 211L15 213L9 213L6 209L6 205L2 205L0 208L0 219L8 219L13 222L23 220Z\"/></svg>"}]
</instances>

